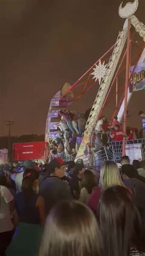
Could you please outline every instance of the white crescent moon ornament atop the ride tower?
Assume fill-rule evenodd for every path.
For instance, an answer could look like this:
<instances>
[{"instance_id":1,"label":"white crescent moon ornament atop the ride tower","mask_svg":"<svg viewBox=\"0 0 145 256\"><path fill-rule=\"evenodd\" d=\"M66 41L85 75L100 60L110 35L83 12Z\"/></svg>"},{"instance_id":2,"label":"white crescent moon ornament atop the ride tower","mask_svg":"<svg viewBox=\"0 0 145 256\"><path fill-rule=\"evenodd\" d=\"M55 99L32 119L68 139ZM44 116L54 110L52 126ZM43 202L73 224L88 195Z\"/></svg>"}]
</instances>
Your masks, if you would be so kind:
<instances>
[{"instance_id":1,"label":"white crescent moon ornament atop the ride tower","mask_svg":"<svg viewBox=\"0 0 145 256\"><path fill-rule=\"evenodd\" d=\"M123 2L122 2L123 3ZM139 0L134 0L133 3L128 2L124 7L122 7L122 3L119 6L119 16L121 18L128 18L133 15L133 13L136 12L137 7L139 5Z\"/></svg>"}]
</instances>

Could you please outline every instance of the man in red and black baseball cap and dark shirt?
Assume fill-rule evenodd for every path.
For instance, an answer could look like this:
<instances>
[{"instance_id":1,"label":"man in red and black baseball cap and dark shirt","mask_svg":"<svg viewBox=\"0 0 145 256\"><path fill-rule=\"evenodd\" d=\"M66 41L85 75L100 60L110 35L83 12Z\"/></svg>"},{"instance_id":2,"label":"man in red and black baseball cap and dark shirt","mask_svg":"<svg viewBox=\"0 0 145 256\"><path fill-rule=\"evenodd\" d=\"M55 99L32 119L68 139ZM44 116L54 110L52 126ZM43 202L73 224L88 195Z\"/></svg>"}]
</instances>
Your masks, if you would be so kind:
<instances>
[{"instance_id":1,"label":"man in red and black baseball cap and dark shirt","mask_svg":"<svg viewBox=\"0 0 145 256\"><path fill-rule=\"evenodd\" d=\"M60 200L71 199L70 189L67 183L61 180L65 175L65 165L60 157L54 158L48 164L49 177L45 179L39 187L39 196L45 201L46 213Z\"/></svg>"}]
</instances>

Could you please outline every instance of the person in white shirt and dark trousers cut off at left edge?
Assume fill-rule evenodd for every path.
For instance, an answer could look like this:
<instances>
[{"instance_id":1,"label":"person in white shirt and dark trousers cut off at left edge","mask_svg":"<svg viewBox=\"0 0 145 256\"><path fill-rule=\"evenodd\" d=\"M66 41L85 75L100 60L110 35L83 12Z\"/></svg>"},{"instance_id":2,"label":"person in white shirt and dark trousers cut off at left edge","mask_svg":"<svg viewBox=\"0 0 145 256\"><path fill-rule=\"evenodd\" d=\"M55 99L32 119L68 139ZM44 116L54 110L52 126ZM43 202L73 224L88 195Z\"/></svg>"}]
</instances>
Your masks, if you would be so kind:
<instances>
[{"instance_id":1,"label":"person in white shirt and dark trousers cut off at left edge","mask_svg":"<svg viewBox=\"0 0 145 256\"><path fill-rule=\"evenodd\" d=\"M6 248L13 237L12 214L14 198L10 191L0 185L0 255L5 256Z\"/></svg>"}]
</instances>

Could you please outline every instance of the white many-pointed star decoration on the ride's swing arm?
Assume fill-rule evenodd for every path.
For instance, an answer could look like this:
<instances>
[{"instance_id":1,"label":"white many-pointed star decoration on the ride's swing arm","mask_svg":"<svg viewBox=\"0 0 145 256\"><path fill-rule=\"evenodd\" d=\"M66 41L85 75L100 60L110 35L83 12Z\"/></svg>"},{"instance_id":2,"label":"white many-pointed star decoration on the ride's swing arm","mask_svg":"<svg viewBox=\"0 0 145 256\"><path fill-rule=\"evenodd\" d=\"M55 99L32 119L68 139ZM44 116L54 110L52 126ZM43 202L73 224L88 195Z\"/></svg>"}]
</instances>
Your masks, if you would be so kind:
<instances>
[{"instance_id":1,"label":"white many-pointed star decoration on the ride's swing arm","mask_svg":"<svg viewBox=\"0 0 145 256\"><path fill-rule=\"evenodd\" d=\"M101 64L101 60L99 60L99 65L95 65L96 67L93 69L94 72L91 75L94 75L93 79L95 78L95 82L97 79L99 80L99 85L101 83L101 78L103 78L106 74L106 65L104 65L105 61Z\"/></svg>"}]
</instances>

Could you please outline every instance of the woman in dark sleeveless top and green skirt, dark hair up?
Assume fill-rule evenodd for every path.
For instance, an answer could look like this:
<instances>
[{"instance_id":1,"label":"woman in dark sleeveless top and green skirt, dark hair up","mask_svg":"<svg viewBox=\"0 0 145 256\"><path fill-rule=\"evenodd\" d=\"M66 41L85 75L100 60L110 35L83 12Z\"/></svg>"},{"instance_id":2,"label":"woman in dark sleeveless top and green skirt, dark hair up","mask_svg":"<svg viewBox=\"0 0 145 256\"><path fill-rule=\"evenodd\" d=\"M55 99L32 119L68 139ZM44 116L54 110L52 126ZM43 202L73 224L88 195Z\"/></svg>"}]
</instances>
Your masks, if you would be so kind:
<instances>
[{"instance_id":1,"label":"woman in dark sleeveless top and green skirt, dark hair up","mask_svg":"<svg viewBox=\"0 0 145 256\"><path fill-rule=\"evenodd\" d=\"M38 196L39 173L27 169L23 174L22 192L17 194L16 209L19 226L7 249L7 256L35 256L41 237L41 225L45 221L44 199Z\"/></svg>"}]
</instances>

